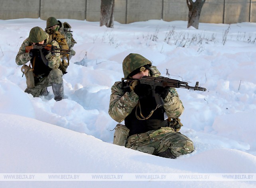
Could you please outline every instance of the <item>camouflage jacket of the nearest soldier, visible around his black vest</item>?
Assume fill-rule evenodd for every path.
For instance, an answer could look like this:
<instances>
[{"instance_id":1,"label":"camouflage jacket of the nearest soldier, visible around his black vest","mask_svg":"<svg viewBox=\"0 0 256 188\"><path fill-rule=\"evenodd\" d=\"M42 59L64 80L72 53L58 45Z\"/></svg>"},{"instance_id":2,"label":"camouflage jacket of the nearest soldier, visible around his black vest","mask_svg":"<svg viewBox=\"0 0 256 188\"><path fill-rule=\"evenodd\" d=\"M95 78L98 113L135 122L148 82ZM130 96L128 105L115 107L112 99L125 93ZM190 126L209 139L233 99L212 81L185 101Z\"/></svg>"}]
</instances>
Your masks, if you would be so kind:
<instances>
[{"instance_id":1,"label":"camouflage jacket of the nearest soldier, visible around his black vest","mask_svg":"<svg viewBox=\"0 0 256 188\"><path fill-rule=\"evenodd\" d=\"M149 76L158 77L160 72L156 67L150 67ZM111 87L110 104L108 114L117 122L122 122L137 106L139 101L138 95L134 92L126 92L122 89L122 82L115 82ZM163 108L169 118L179 118L184 107L179 100L179 96L175 88L170 88L168 95L163 99Z\"/></svg>"}]
</instances>

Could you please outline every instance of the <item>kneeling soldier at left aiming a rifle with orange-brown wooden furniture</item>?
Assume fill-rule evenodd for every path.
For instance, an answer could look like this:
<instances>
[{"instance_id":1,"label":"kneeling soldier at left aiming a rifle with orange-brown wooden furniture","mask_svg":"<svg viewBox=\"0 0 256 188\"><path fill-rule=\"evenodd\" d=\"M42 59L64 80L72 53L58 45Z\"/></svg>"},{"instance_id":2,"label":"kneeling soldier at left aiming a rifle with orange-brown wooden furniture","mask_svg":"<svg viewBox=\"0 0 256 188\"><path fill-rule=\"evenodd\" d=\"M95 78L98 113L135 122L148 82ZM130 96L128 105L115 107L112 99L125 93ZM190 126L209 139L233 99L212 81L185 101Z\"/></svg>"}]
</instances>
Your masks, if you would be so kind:
<instances>
[{"instance_id":1,"label":"kneeling soldier at left aiming a rifle with orange-brown wooden furniture","mask_svg":"<svg viewBox=\"0 0 256 188\"><path fill-rule=\"evenodd\" d=\"M31 49L26 52L26 47L38 44L48 44L49 35L43 31L40 27L33 27L30 30L28 38L22 43L20 50L16 56L17 65L24 65L22 67L22 72L26 75L27 88L26 93L32 94L34 97L47 96L47 87L52 86L54 99L56 101L63 99L63 79L62 72L59 68L61 62L60 54L52 54L47 49L42 49L42 57L39 49ZM59 44L52 40L49 44L57 46ZM48 65L43 62L46 59ZM25 66L25 64L30 61L32 68L30 66ZM29 74L31 73L31 74Z\"/></svg>"}]
</instances>

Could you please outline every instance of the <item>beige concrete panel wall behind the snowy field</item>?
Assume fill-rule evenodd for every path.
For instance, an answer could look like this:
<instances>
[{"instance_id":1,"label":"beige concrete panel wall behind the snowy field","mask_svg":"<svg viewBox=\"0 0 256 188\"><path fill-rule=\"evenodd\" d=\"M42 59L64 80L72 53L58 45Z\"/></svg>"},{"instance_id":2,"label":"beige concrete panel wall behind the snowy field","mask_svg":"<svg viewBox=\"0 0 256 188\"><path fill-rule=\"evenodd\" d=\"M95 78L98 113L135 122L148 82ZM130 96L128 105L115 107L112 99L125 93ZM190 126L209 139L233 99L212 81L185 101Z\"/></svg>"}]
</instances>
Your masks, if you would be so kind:
<instances>
[{"instance_id":1,"label":"beige concrete panel wall behind the snowy field","mask_svg":"<svg viewBox=\"0 0 256 188\"><path fill-rule=\"evenodd\" d=\"M101 0L0 0L0 19L50 16L98 22ZM146 20L187 21L186 0L115 0L114 20L131 23ZM256 1L206 0L199 22L256 22Z\"/></svg>"}]
</instances>

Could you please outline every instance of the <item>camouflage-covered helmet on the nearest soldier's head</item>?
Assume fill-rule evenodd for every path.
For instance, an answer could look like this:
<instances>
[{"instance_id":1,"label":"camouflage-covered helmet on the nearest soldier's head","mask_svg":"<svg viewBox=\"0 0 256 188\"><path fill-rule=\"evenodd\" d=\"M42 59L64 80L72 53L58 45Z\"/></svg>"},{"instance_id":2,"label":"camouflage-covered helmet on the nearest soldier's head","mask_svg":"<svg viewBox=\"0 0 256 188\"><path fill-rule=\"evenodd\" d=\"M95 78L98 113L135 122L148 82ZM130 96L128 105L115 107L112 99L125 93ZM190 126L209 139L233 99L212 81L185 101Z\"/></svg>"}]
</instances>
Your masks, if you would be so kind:
<instances>
[{"instance_id":1,"label":"camouflage-covered helmet on the nearest soldier's head","mask_svg":"<svg viewBox=\"0 0 256 188\"><path fill-rule=\"evenodd\" d=\"M138 53L130 53L123 61L124 78L128 78L130 73L144 65L151 67L152 63Z\"/></svg>"}]
</instances>

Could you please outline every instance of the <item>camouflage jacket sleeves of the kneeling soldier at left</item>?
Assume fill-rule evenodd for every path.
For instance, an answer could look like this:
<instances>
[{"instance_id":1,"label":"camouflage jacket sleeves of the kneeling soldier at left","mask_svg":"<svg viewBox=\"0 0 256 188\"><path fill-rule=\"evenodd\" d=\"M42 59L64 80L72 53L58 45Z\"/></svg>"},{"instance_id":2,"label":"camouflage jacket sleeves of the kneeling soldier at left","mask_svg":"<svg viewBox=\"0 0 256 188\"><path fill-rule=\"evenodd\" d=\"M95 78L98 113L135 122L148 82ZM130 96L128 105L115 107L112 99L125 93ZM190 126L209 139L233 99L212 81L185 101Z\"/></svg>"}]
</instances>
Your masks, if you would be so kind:
<instances>
[{"instance_id":1,"label":"camouflage jacket sleeves of the kneeling soldier at left","mask_svg":"<svg viewBox=\"0 0 256 188\"><path fill-rule=\"evenodd\" d=\"M57 46L57 48L59 48L59 44L54 40L51 41L50 44L53 46ZM32 57L30 57L30 55L28 53L26 53L26 46L31 46L31 45L33 45L33 44L28 41L28 38L23 41L23 43L19 49L19 52L16 56L16 64L17 65L24 65L32 59ZM59 53L55 53L55 55L52 55L51 53L49 53L45 56L45 58L49 62L48 67L50 67L51 69L59 68L59 63L61 62Z\"/></svg>"}]
</instances>

